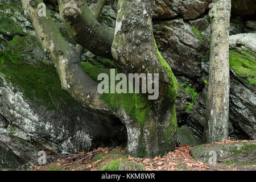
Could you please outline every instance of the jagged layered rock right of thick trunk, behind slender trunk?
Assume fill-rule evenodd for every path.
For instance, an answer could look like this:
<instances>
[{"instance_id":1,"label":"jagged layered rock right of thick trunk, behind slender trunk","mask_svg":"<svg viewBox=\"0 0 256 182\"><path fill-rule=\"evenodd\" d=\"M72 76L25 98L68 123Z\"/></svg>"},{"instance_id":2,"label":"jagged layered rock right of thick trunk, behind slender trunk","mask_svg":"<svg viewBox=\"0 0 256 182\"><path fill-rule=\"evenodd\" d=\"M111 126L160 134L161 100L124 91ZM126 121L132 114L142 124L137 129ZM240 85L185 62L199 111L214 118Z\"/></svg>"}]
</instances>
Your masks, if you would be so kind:
<instances>
[{"instance_id":1,"label":"jagged layered rock right of thick trunk, behind slender trunk","mask_svg":"<svg viewBox=\"0 0 256 182\"><path fill-rule=\"evenodd\" d=\"M240 13L232 9L232 14ZM255 34L240 34L253 32L254 21L238 16L233 16L231 21L231 34L238 35L230 36L229 135L235 139L254 139L256 40ZM176 111L179 126L185 125L178 131L181 143L185 141L182 137L184 130L185 133L192 131L201 139L203 137L209 68L209 22L207 15L193 20L176 17L173 20L154 21L154 34L160 52L180 83ZM192 88L195 89L194 95L197 94L195 98L192 97ZM185 143L188 144L187 141Z\"/></svg>"}]
</instances>

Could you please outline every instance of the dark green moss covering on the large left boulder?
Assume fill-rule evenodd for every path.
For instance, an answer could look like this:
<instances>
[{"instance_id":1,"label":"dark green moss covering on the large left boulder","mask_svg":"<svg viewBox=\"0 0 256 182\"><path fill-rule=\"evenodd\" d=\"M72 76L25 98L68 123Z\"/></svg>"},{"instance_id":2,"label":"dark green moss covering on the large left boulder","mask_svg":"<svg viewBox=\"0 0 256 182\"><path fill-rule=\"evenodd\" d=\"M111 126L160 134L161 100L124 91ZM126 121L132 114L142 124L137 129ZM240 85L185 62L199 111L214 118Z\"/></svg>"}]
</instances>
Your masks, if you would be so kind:
<instances>
[{"instance_id":1,"label":"dark green moss covering on the large left boulder","mask_svg":"<svg viewBox=\"0 0 256 182\"><path fill-rule=\"evenodd\" d=\"M16 89L22 90L25 99L48 110L82 107L61 89L53 64L35 59L31 51L36 46L38 42L34 36L15 37L7 42L0 57L0 72Z\"/></svg>"}]
</instances>

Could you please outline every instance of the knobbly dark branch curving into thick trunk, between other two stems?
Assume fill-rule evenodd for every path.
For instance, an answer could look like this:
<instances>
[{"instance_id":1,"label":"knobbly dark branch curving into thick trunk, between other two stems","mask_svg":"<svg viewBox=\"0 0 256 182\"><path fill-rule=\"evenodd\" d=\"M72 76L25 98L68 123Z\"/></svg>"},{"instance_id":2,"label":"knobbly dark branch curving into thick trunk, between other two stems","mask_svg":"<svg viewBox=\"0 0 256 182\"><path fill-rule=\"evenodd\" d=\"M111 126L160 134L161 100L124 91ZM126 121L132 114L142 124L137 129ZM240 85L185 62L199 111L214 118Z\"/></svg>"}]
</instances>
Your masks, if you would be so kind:
<instances>
[{"instance_id":1,"label":"knobbly dark branch curving into thick trunk, between other two stems","mask_svg":"<svg viewBox=\"0 0 256 182\"><path fill-rule=\"evenodd\" d=\"M59 0L60 15L78 44L90 52L113 59L114 29L97 21L84 0Z\"/></svg>"}]
</instances>

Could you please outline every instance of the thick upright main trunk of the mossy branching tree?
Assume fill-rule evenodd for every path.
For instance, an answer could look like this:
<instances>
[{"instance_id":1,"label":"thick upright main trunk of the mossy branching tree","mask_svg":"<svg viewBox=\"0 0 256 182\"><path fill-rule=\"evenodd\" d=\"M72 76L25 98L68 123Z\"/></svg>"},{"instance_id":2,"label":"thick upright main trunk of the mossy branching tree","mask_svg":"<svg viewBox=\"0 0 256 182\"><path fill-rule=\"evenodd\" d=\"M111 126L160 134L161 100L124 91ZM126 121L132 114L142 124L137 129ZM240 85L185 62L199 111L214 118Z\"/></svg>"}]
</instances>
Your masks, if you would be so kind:
<instances>
[{"instance_id":1,"label":"thick upright main trunk of the mossy branching tree","mask_svg":"<svg viewBox=\"0 0 256 182\"><path fill-rule=\"evenodd\" d=\"M177 80L171 68L160 55L152 31L152 3L148 1L118 1L118 15L112 55L115 63L128 73L159 73L159 98L148 101L147 97L137 100L143 102L143 119L123 119L128 133L127 151L131 155L157 156L175 149L176 113L175 98ZM146 99L145 99L146 98ZM139 105L139 103L137 103ZM141 114L138 112L138 115Z\"/></svg>"}]
</instances>

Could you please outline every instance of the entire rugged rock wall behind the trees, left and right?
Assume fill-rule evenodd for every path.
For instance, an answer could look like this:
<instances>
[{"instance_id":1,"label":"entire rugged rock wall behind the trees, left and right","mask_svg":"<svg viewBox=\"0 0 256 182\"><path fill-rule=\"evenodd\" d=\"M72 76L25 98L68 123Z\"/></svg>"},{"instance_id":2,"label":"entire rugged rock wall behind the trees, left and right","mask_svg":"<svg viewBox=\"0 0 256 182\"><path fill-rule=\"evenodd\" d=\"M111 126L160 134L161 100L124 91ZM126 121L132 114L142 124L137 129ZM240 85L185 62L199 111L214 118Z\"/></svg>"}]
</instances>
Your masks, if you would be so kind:
<instances>
[{"instance_id":1,"label":"entire rugged rock wall behind the trees, left and right","mask_svg":"<svg viewBox=\"0 0 256 182\"><path fill-rule=\"evenodd\" d=\"M48 7L61 34L74 44L56 11L56 1L48 2L53 3ZM88 2L93 10L96 0ZM180 84L176 100L179 143L203 143L210 2L155 1L156 43ZM115 26L116 5L116 0L108 1L100 17L102 23ZM254 6L254 0L232 0L230 34L255 32L255 20L245 16L255 14ZM47 154L71 154L126 140L126 129L117 119L85 110L61 90L55 68L23 15L20 1L0 0L0 7L0 156L5 156L1 157L5 164L11 164L7 160L16 156L26 160L38 157L40 150ZM229 135L253 139L255 47L243 39L237 41L237 36L230 39L234 38L230 45ZM255 43L255 34L251 37L251 43Z\"/></svg>"}]
</instances>

